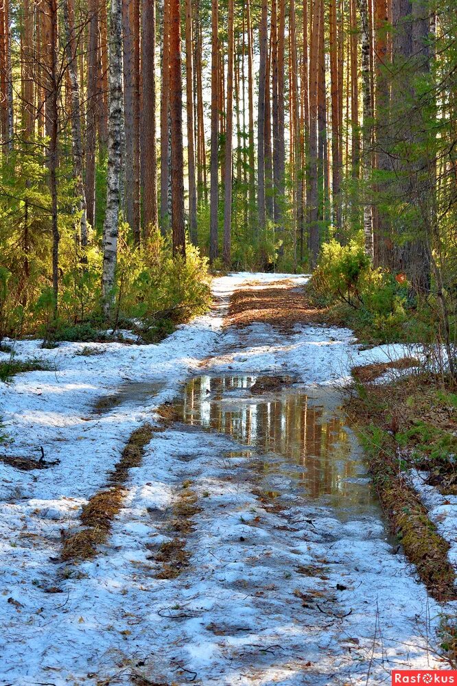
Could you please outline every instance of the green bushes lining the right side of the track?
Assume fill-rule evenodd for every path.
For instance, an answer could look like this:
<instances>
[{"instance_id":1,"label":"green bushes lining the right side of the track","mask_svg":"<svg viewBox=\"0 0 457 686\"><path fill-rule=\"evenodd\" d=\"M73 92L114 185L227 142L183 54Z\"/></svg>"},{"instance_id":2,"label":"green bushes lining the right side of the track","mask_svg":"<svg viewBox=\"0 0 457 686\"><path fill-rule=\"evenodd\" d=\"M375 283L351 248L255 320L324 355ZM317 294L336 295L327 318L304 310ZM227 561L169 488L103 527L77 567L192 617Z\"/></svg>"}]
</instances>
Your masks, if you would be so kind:
<instances>
[{"instance_id":1,"label":"green bushes lining the right side of the track","mask_svg":"<svg viewBox=\"0 0 457 686\"><path fill-rule=\"evenodd\" d=\"M454 355L457 342L457 303L453 276L443 291L449 332L443 321L443 302L432 283L430 294L414 294L405 274L373 268L362 238L342 246L323 244L316 270L307 284L307 297L327 307L328 323L353 329L361 342L421 343L434 346L449 335Z\"/></svg>"}]
</instances>

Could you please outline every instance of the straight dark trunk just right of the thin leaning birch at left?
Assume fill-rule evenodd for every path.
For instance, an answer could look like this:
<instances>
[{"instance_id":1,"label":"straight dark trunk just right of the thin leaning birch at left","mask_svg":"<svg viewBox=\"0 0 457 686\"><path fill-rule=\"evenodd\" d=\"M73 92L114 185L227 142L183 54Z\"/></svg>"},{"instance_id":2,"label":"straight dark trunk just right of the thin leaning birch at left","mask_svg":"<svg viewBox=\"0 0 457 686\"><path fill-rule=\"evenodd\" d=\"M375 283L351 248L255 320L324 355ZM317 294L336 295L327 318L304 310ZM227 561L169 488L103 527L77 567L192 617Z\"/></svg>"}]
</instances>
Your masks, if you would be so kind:
<instances>
[{"instance_id":1,"label":"straight dark trunk just right of the thin leaning birch at left","mask_svg":"<svg viewBox=\"0 0 457 686\"><path fill-rule=\"evenodd\" d=\"M87 114L86 114L86 204L87 220L95 226L95 149L97 143L98 109L98 7L90 0L89 45L87 55Z\"/></svg>"}]
</instances>

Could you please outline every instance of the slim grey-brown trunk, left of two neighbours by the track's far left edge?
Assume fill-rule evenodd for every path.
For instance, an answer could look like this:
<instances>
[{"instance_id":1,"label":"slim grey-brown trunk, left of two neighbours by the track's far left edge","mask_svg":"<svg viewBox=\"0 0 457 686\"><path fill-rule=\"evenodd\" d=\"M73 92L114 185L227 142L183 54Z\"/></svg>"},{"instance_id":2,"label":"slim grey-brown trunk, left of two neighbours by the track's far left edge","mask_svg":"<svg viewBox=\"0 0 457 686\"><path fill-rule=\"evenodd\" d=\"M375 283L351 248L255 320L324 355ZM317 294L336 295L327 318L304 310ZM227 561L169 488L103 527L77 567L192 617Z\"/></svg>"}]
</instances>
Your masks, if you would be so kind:
<instances>
[{"instance_id":1,"label":"slim grey-brown trunk, left of two neighbours by the track's far left edge","mask_svg":"<svg viewBox=\"0 0 457 686\"><path fill-rule=\"evenodd\" d=\"M211 193L209 218L209 260L218 257L218 200L219 200L219 8L218 0L211 2Z\"/></svg>"}]
</instances>

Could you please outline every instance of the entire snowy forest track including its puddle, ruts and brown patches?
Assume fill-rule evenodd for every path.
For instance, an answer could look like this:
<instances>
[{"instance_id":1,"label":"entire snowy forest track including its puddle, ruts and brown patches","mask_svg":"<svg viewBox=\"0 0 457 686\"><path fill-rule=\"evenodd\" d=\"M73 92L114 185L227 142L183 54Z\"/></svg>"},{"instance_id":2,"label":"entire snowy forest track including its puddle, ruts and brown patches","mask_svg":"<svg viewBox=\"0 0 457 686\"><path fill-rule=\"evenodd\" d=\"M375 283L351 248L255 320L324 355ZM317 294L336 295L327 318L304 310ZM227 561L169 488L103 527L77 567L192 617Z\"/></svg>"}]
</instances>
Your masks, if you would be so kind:
<instances>
[{"instance_id":1,"label":"entire snowy forest track including its puddle, ruts and brown patches","mask_svg":"<svg viewBox=\"0 0 457 686\"><path fill-rule=\"evenodd\" d=\"M388 534L340 410L351 368L410 350L325 326L305 281L215 279L211 313L155 346L16 342L50 369L0 387L0 684L447 668L456 604Z\"/></svg>"}]
</instances>

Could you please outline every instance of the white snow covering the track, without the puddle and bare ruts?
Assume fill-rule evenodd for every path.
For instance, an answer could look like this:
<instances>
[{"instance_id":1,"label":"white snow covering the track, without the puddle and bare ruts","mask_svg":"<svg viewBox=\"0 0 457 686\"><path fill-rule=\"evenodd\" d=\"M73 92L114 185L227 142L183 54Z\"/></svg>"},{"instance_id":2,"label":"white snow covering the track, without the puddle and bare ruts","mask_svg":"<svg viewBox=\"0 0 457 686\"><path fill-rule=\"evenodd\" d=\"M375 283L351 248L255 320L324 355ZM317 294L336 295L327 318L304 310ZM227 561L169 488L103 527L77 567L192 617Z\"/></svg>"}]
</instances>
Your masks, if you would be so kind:
<instances>
[{"instance_id":1,"label":"white snow covering the track, without the puddle and bare ruts","mask_svg":"<svg viewBox=\"0 0 457 686\"><path fill-rule=\"evenodd\" d=\"M156 421L154 409L189 375L281 372L331 386L354 364L406 354L359 351L346 329L222 327L233 289L284 276L215 279L211 314L157 346L16 342L20 359L53 370L1 384L1 450L38 458L43 447L60 463L21 472L0 462L0 684L129 684L138 675L159 684L381 684L394 666L436 664L443 608L392 554L379 512L340 519L288 496L287 479L272 508L249 460L226 459L239 445L198 427L155 434L130 470L108 543L92 560L60 561L62 536L78 530L81 506L106 484L132 431ZM119 405L94 411L123 389ZM185 536L189 567L157 578L186 480L201 508Z\"/></svg>"}]
</instances>

